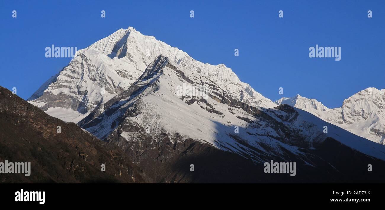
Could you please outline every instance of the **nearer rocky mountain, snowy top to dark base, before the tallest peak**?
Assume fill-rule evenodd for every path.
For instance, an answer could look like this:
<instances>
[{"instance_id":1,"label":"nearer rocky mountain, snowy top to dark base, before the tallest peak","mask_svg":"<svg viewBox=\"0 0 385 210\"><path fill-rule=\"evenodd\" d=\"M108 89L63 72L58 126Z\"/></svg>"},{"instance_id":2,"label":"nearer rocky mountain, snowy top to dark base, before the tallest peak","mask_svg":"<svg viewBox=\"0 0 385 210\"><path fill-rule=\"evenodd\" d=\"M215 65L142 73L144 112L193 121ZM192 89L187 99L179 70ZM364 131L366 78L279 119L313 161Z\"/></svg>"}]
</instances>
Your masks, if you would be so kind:
<instances>
[{"instance_id":1,"label":"nearer rocky mountain, snowy top to dark base, before the tallest peak","mask_svg":"<svg viewBox=\"0 0 385 210\"><path fill-rule=\"evenodd\" d=\"M183 84L205 85L207 97L179 95ZM150 182L375 182L385 172L367 171L385 166L382 145L289 105L250 106L164 56L78 125L119 145ZM270 160L296 162L296 176L264 173Z\"/></svg>"}]
</instances>

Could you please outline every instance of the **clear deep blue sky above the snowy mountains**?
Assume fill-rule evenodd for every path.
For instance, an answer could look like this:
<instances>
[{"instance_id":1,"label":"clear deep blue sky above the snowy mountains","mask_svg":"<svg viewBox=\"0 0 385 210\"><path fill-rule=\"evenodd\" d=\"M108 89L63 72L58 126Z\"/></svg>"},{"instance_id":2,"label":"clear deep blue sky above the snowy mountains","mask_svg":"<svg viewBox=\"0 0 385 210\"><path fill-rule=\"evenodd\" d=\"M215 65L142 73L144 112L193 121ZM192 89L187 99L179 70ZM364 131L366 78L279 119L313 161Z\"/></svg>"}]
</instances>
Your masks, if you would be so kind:
<instances>
[{"instance_id":1,"label":"clear deep blue sky above the snowy mountains","mask_svg":"<svg viewBox=\"0 0 385 210\"><path fill-rule=\"evenodd\" d=\"M70 61L45 58L45 47L82 49L129 26L203 63L224 63L273 101L300 94L333 108L385 88L383 0L1 1L0 15L0 85L24 99ZM309 58L316 44L341 47L341 60Z\"/></svg>"}]
</instances>

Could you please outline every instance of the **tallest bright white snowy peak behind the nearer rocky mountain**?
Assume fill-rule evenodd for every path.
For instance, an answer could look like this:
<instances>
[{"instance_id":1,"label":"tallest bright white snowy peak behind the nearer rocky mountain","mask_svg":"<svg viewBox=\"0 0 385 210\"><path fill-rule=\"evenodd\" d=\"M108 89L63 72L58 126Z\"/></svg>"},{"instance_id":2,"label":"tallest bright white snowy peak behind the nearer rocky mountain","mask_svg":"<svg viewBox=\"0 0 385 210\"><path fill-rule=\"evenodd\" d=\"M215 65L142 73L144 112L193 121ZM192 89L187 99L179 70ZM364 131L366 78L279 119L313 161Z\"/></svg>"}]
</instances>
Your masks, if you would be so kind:
<instances>
[{"instance_id":1,"label":"tallest bright white snowy peak behind the nearer rocky mountain","mask_svg":"<svg viewBox=\"0 0 385 210\"><path fill-rule=\"evenodd\" d=\"M225 65L194 60L182 50L142 35L132 27L119 29L78 50L69 65L45 82L28 101L49 115L78 122L98 105L127 90L161 54L177 66L207 77L242 102L265 108L276 106L241 82Z\"/></svg>"}]
</instances>

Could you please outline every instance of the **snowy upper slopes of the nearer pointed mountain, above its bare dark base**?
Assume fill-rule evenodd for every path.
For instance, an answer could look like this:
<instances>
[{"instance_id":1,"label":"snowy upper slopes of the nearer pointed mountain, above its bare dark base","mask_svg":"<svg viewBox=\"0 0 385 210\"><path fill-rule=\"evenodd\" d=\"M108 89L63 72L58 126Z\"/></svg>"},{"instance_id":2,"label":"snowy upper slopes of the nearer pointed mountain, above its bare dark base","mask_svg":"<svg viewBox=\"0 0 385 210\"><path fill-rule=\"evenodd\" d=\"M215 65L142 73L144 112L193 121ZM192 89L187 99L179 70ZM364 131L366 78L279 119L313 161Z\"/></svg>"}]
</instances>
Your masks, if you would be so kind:
<instances>
[{"instance_id":1,"label":"snowy upper slopes of the nearer pointed mountain, above its bare dark base","mask_svg":"<svg viewBox=\"0 0 385 210\"><path fill-rule=\"evenodd\" d=\"M178 95L183 83L206 85L208 97ZM128 90L95 108L78 125L101 140L129 142L131 147L148 138L154 139L151 147L156 147L161 135L167 135L171 144L192 138L256 163L269 158L296 158L303 164L316 165L313 155L307 153L328 137L385 160L383 145L288 105L251 107L233 98L231 90L163 56L150 63ZM325 125L328 133L323 133Z\"/></svg>"}]
</instances>

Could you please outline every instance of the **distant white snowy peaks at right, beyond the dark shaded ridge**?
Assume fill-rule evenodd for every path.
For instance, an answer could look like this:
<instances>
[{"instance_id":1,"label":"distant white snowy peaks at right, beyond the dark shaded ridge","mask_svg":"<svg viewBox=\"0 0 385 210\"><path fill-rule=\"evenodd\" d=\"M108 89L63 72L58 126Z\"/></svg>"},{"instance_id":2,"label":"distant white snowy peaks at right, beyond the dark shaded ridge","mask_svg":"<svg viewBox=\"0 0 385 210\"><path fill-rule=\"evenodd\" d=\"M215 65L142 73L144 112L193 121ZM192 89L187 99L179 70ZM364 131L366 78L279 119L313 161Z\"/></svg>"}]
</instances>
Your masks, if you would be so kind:
<instances>
[{"instance_id":1,"label":"distant white snowy peaks at right, beyond the dark shaded ridge","mask_svg":"<svg viewBox=\"0 0 385 210\"><path fill-rule=\"evenodd\" d=\"M367 88L345 99L341 107L333 109L299 95L281 98L275 103L303 109L326 122L385 145L385 89Z\"/></svg>"}]
</instances>

